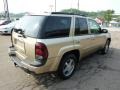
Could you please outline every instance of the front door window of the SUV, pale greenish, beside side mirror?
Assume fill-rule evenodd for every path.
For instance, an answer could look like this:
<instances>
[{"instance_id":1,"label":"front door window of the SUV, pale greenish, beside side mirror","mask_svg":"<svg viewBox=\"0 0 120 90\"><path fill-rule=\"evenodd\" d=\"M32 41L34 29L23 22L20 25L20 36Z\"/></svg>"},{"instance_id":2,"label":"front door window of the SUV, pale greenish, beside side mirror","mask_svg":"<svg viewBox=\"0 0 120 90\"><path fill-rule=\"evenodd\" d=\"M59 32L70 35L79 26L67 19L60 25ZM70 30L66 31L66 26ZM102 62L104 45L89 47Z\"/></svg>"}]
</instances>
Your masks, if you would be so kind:
<instances>
[{"instance_id":1,"label":"front door window of the SUV, pale greenish, beside side mirror","mask_svg":"<svg viewBox=\"0 0 120 90\"><path fill-rule=\"evenodd\" d=\"M88 24L89 24L91 33L93 34L100 33L100 26L97 24L96 21L89 19Z\"/></svg>"}]
</instances>

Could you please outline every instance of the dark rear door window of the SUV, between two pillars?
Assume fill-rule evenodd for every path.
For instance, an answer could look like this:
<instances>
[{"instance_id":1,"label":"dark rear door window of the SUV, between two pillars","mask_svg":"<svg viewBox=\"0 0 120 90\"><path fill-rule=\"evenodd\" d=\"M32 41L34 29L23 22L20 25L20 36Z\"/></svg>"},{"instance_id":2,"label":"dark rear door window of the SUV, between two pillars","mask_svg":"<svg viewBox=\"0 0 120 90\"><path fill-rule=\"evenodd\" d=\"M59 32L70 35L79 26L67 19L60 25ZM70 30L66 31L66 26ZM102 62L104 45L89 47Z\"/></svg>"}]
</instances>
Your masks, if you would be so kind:
<instances>
[{"instance_id":1,"label":"dark rear door window of the SUV, between two pillars","mask_svg":"<svg viewBox=\"0 0 120 90\"><path fill-rule=\"evenodd\" d=\"M88 25L85 18L75 19L75 35L85 35L88 34Z\"/></svg>"}]
</instances>

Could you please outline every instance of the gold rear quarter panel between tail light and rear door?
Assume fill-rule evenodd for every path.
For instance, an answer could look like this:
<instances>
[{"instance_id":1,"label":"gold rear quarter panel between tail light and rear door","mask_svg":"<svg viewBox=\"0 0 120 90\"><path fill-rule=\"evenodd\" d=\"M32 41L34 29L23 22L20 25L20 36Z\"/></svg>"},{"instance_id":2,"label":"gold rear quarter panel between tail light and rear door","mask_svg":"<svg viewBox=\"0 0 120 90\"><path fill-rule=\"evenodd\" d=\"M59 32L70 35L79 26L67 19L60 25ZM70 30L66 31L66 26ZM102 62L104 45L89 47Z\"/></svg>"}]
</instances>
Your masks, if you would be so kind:
<instances>
[{"instance_id":1,"label":"gold rear quarter panel between tail light and rear door","mask_svg":"<svg viewBox=\"0 0 120 90\"><path fill-rule=\"evenodd\" d=\"M37 40L37 42L42 42L47 46L49 55L46 64L50 66L49 71L56 71L63 55L74 50L72 37Z\"/></svg>"}]
</instances>

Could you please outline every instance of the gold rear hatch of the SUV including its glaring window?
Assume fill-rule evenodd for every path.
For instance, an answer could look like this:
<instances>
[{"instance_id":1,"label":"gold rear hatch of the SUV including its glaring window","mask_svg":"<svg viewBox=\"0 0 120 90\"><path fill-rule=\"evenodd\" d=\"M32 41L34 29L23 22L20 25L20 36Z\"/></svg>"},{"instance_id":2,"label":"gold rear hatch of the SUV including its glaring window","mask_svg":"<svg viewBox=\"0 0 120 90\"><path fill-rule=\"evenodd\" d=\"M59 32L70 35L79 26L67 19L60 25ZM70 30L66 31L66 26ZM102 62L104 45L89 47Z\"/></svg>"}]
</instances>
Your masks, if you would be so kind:
<instances>
[{"instance_id":1,"label":"gold rear hatch of the SUV including its glaring window","mask_svg":"<svg viewBox=\"0 0 120 90\"><path fill-rule=\"evenodd\" d=\"M14 27L12 40L16 55L26 63L35 60L35 44L43 20L43 16L24 16Z\"/></svg>"}]
</instances>

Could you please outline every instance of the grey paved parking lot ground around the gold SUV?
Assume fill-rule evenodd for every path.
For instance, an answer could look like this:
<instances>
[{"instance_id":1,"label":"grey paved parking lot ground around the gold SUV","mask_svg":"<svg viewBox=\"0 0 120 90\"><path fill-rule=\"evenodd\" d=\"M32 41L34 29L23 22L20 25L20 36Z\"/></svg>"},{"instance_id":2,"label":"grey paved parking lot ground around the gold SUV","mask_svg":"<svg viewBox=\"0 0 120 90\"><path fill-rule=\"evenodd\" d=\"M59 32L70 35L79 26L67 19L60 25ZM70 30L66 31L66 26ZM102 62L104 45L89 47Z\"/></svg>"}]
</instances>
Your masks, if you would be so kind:
<instances>
[{"instance_id":1,"label":"grey paved parking lot ground around the gold SUV","mask_svg":"<svg viewBox=\"0 0 120 90\"><path fill-rule=\"evenodd\" d=\"M106 55L82 60L72 78L62 81L51 74L28 74L14 67L8 57L10 36L0 35L0 90L120 90L120 32L110 31L112 43Z\"/></svg>"}]
</instances>

